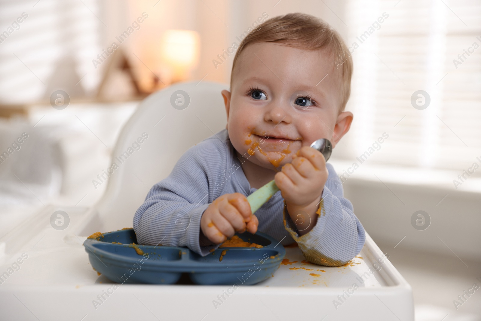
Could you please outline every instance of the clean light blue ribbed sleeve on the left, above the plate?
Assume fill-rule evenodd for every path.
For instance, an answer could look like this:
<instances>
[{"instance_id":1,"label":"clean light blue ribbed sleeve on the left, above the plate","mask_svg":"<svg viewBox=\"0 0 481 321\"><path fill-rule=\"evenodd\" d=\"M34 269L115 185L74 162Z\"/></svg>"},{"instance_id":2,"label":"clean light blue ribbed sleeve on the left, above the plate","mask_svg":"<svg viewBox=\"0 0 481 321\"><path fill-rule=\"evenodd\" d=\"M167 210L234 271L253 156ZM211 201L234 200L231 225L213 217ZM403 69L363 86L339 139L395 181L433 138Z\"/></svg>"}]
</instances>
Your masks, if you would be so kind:
<instances>
[{"instance_id":1,"label":"clean light blue ribbed sleeve on the left, above the plate","mask_svg":"<svg viewBox=\"0 0 481 321\"><path fill-rule=\"evenodd\" d=\"M211 169L223 168L222 157L212 149L208 144L192 146L170 175L152 187L133 218L139 244L187 246L201 256L219 246L199 239L202 214L214 196L209 191L215 192L209 189L209 177L215 175ZM209 157L215 154L215 159Z\"/></svg>"}]
</instances>

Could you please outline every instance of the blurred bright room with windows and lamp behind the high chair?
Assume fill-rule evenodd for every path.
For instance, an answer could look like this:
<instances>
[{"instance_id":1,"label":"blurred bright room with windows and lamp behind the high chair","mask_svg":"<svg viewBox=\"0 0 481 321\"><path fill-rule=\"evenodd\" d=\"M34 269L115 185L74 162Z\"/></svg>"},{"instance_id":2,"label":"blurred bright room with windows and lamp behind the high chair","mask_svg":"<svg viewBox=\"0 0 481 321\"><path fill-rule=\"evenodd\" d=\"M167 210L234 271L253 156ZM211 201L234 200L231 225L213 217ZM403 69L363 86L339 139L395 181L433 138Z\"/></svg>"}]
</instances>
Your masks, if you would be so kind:
<instances>
[{"instance_id":1,"label":"blurred bright room with windows and lamp behind the high chair","mask_svg":"<svg viewBox=\"0 0 481 321\"><path fill-rule=\"evenodd\" d=\"M143 98L228 83L228 48L291 12L352 54L354 122L330 162L416 320L481 320L481 290L458 297L481 286L480 0L1 0L0 238L44 205L95 204Z\"/></svg>"}]
</instances>

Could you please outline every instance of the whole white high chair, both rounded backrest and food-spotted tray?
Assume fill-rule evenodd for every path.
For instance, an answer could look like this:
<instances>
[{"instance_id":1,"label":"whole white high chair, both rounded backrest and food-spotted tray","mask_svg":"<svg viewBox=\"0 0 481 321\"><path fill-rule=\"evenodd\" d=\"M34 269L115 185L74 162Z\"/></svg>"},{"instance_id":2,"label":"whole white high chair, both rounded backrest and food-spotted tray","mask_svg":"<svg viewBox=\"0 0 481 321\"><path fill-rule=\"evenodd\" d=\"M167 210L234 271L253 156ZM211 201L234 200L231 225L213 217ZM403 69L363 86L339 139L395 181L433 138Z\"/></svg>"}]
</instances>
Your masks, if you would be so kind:
<instances>
[{"instance_id":1,"label":"whole white high chair, both rounded backrest and food-spotted tray","mask_svg":"<svg viewBox=\"0 0 481 321\"><path fill-rule=\"evenodd\" d=\"M298 248L286 248L286 258L296 263L280 265L272 278L236 290L228 285L114 286L92 270L82 245L86 237L132 227L147 192L179 156L225 128L222 89L227 86L181 83L146 98L120 134L113 152L118 168L98 204L46 206L0 240L2 320L414 320L410 285L368 235L351 265L304 264ZM176 90L190 96L183 110L170 103ZM116 157L142 133L148 138L140 149L119 164ZM60 231L50 223L57 210L70 218Z\"/></svg>"}]
</instances>

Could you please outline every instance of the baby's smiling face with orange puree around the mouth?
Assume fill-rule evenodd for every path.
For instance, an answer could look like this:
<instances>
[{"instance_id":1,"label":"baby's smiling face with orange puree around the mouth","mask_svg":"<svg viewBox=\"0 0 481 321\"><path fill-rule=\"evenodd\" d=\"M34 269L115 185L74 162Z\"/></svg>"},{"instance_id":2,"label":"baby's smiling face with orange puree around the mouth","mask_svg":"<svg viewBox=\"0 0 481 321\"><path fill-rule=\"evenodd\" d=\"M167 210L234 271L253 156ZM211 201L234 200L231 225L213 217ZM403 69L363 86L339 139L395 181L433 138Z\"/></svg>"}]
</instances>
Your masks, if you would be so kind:
<instances>
[{"instance_id":1,"label":"baby's smiling face with orange puree around the mouth","mask_svg":"<svg viewBox=\"0 0 481 321\"><path fill-rule=\"evenodd\" d=\"M244 159L280 170L317 139L327 138L335 146L349 129L352 114L339 113L340 70L333 59L325 51L275 43L244 49L232 92L222 91L229 138Z\"/></svg>"}]
</instances>

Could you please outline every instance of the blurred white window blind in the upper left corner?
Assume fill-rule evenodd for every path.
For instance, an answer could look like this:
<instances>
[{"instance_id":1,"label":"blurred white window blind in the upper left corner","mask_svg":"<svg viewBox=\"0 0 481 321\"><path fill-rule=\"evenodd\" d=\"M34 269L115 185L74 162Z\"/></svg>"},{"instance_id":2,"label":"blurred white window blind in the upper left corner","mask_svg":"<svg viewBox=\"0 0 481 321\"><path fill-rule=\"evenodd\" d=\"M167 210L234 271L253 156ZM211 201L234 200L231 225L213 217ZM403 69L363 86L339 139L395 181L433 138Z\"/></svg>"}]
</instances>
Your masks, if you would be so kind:
<instances>
[{"instance_id":1,"label":"blurred white window blind in the upper left corner","mask_svg":"<svg viewBox=\"0 0 481 321\"><path fill-rule=\"evenodd\" d=\"M91 61L106 28L100 9L98 0L0 2L0 103L48 100L65 82L70 95L95 90L101 75Z\"/></svg>"}]
</instances>

